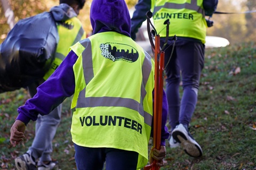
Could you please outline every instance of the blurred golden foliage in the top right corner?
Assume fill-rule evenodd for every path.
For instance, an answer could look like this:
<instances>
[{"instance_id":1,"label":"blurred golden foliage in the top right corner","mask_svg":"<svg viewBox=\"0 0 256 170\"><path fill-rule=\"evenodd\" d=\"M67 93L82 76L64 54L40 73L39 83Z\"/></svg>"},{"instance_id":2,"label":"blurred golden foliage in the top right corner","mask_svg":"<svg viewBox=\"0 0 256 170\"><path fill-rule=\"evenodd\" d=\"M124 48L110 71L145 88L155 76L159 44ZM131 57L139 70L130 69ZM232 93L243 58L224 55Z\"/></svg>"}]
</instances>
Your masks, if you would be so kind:
<instances>
[{"instance_id":1,"label":"blurred golden foliage in the top right corner","mask_svg":"<svg viewBox=\"0 0 256 170\"><path fill-rule=\"evenodd\" d=\"M213 27L207 28L207 36L227 38L230 44L255 41L255 0L219 0L217 11L237 14L213 14ZM252 13L242 13L254 11Z\"/></svg>"}]
</instances>

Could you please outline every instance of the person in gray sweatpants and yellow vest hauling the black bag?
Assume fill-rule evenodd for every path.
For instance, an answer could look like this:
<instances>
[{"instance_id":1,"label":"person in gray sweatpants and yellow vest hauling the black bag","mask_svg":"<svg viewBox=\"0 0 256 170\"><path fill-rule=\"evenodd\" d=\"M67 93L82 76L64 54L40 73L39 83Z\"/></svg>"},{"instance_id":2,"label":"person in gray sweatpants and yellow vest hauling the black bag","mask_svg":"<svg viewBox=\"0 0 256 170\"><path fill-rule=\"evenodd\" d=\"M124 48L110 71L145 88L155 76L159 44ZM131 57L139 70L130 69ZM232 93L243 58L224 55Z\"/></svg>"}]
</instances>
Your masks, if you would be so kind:
<instances>
[{"instance_id":1,"label":"person in gray sweatpants and yellow vest hauling the black bag","mask_svg":"<svg viewBox=\"0 0 256 170\"><path fill-rule=\"evenodd\" d=\"M59 33L59 43L55 53L51 69L45 74L42 80L34 82L28 86L31 97L37 92L37 87L42 84L57 69L60 63L68 54L70 46L74 45L81 39L85 39L86 35L82 28L82 23L77 18L79 11L83 8L85 0L60 0L59 6L51 8L57 24ZM68 75L68 74L67 74ZM55 87L52 87L55 90ZM44 105L44 102L42 102ZM49 115L38 115L36 122L35 138L28 151L15 158L15 166L20 169L53 169L58 162L51 159L52 140L57 131L61 120L62 104L59 103L49 112ZM38 111L41 113L41 111ZM37 162L37 159L38 162Z\"/></svg>"}]
</instances>

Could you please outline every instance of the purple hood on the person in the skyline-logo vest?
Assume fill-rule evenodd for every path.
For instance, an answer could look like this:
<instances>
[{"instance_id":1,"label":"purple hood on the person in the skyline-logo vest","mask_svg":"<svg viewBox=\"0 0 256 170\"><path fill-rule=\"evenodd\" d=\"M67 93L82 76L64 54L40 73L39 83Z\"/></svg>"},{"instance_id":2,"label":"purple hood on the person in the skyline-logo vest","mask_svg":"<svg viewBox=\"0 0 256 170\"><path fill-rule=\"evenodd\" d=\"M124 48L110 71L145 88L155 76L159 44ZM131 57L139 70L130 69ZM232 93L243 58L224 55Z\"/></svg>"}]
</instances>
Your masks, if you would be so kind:
<instances>
[{"instance_id":1,"label":"purple hood on the person in the skyline-logo vest","mask_svg":"<svg viewBox=\"0 0 256 170\"><path fill-rule=\"evenodd\" d=\"M93 0L90 19L93 35L115 31L130 37L131 18L124 0Z\"/></svg>"}]
</instances>

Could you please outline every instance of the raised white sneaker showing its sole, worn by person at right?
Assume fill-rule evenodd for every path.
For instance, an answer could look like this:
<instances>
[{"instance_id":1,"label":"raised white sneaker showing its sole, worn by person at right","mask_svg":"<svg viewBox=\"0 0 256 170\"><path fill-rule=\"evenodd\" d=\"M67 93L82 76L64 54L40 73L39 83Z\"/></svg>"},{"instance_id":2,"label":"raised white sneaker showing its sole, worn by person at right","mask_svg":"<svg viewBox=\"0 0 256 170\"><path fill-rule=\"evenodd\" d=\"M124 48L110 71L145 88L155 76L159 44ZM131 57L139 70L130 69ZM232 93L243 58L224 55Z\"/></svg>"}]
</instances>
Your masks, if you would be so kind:
<instances>
[{"instance_id":1,"label":"raised white sneaker showing its sole, worn by person at right","mask_svg":"<svg viewBox=\"0 0 256 170\"><path fill-rule=\"evenodd\" d=\"M183 150L189 156L201 157L203 155L202 148L183 126L183 124L176 126L176 128L172 131L172 137L174 140L180 143Z\"/></svg>"}]
</instances>

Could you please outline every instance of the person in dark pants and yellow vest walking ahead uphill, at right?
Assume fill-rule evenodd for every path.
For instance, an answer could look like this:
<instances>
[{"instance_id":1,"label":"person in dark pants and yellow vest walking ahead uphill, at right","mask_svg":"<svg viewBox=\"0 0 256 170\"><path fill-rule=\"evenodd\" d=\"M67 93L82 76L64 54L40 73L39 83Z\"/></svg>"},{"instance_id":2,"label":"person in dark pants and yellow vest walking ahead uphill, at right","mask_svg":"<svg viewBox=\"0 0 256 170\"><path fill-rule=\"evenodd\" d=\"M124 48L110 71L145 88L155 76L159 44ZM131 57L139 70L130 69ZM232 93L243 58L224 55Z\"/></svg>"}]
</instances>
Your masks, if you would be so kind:
<instances>
[{"instance_id":1,"label":"person in dark pants and yellow vest walking ahead uphill, at right","mask_svg":"<svg viewBox=\"0 0 256 170\"><path fill-rule=\"evenodd\" d=\"M204 67L205 15L212 15L217 4L218 0L139 0L131 19L131 37L135 40L138 29L146 20L147 11L151 9L154 27L161 37L161 47L166 37L164 21L170 20L170 38L165 50L166 96L171 126L169 143L171 148L181 145L186 154L192 157L203 154L201 146L189 133L188 126L195 111L199 78ZM175 45L174 35L178 39ZM180 101L181 78L183 95Z\"/></svg>"}]
</instances>

